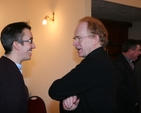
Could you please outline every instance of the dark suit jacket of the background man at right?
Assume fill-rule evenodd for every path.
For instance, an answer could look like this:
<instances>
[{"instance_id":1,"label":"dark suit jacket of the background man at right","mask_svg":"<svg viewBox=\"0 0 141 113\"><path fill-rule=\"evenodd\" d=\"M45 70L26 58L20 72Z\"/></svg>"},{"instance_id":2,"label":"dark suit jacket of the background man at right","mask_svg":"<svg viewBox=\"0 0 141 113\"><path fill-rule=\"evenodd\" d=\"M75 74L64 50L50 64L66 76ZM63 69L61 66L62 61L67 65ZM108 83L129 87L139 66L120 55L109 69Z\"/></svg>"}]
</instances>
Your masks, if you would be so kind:
<instances>
[{"instance_id":1,"label":"dark suit jacket of the background man at right","mask_svg":"<svg viewBox=\"0 0 141 113\"><path fill-rule=\"evenodd\" d=\"M135 87L134 71L122 54L114 60L114 66L118 74L118 111L119 113L136 113L134 110L136 109L135 103L138 102L138 97Z\"/></svg>"}]
</instances>

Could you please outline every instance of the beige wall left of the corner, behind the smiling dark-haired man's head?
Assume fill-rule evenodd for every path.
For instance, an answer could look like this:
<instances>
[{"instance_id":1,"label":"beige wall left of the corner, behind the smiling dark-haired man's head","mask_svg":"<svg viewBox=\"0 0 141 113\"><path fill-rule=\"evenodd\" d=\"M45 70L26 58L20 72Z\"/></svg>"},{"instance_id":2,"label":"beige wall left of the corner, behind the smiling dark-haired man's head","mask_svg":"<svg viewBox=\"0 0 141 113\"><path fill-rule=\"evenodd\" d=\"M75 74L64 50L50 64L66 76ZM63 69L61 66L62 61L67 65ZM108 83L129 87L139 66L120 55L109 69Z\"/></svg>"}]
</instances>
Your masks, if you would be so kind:
<instances>
[{"instance_id":1,"label":"beige wall left of the corner, behind the smiling dark-haired man's head","mask_svg":"<svg viewBox=\"0 0 141 113\"><path fill-rule=\"evenodd\" d=\"M8 23L16 21L28 21L27 0L0 0L0 31ZM3 53L0 44L0 55Z\"/></svg>"}]
</instances>

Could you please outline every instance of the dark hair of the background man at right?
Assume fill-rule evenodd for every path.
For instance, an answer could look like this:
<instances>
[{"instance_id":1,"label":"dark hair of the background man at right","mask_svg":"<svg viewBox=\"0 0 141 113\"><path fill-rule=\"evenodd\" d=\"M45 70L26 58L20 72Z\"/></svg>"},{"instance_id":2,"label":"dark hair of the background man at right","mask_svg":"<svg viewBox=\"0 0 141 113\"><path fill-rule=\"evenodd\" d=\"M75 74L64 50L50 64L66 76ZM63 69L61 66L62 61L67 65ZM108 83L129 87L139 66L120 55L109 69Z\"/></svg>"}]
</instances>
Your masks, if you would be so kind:
<instances>
[{"instance_id":1,"label":"dark hair of the background man at right","mask_svg":"<svg viewBox=\"0 0 141 113\"><path fill-rule=\"evenodd\" d=\"M127 52L129 49L135 50L137 45L140 45L138 40L127 39L122 46L122 52Z\"/></svg>"}]
</instances>

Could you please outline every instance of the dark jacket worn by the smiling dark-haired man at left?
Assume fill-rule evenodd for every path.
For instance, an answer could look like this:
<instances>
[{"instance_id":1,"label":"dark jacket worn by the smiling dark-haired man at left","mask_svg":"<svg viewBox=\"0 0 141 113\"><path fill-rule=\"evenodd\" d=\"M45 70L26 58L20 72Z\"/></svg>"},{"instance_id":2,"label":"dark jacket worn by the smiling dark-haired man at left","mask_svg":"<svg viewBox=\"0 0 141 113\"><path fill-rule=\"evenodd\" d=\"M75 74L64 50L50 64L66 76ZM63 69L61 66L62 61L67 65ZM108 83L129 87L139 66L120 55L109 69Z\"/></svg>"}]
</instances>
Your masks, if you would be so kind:
<instances>
[{"instance_id":1,"label":"dark jacket worn by the smiling dark-haired man at left","mask_svg":"<svg viewBox=\"0 0 141 113\"><path fill-rule=\"evenodd\" d=\"M0 58L0 113L27 113L27 94L23 76L16 64Z\"/></svg>"}]
</instances>

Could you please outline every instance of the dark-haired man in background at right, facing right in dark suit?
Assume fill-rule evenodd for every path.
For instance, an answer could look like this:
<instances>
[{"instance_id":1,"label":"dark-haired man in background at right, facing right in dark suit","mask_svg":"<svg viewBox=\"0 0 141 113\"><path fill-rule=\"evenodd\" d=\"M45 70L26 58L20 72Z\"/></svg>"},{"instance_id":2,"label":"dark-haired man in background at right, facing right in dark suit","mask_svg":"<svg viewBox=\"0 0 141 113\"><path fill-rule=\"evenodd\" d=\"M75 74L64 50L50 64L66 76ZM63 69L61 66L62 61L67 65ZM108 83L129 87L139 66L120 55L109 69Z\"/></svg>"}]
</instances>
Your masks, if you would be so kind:
<instances>
[{"instance_id":1,"label":"dark-haired man in background at right, facing right in dark suit","mask_svg":"<svg viewBox=\"0 0 141 113\"><path fill-rule=\"evenodd\" d=\"M128 39L122 46L122 54L113 61L118 75L118 113L138 113L138 95L132 61L138 59L140 49L139 41Z\"/></svg>"}]
</instances>

